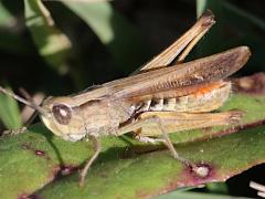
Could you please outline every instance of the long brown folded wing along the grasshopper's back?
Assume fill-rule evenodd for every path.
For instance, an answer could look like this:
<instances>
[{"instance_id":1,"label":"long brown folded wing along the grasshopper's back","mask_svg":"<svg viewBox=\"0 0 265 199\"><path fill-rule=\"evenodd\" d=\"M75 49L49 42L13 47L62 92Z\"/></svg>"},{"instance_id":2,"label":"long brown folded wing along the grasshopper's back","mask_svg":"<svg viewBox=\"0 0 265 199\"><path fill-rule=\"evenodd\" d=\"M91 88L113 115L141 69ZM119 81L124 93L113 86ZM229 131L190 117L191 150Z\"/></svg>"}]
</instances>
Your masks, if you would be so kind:
<instances>
[{"instance_id":1,"label":"long brown folded wing along the grasshopper's back","mask_svg":"<svg viewBox=\"0 0 265 199\"><path fill-rule=\"evenodd\" d=\"M182 95L193 85L203 85L230 76L247 62L250 55L247 46L239 46L192 62L116 80L103 86L116 100L141 101L152 94L170 91ZM172 93L176 96L176 92Z\"/></svg>"}]
</instances>

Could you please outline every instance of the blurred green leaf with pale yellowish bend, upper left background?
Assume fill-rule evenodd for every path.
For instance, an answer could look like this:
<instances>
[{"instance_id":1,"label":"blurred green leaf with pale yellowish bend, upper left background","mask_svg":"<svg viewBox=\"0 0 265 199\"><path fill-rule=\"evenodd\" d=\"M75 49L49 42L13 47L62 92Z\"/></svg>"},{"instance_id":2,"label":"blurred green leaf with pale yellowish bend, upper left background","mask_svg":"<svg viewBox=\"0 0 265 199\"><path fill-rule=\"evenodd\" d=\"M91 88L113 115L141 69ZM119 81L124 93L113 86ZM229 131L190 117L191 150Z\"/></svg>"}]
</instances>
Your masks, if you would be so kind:
<instances>
[{"instance_id":1,"label":"blurred green leaf with pale yellowish bend, upper left background","mask_svg":"<svg viewBox=\"0 0 265 199\"><path fill-rule=\"evenodd\" d=\"M25 23L43 59L60 74L67 72L71 41L54 24L41 0L24 0Z\"/></svg>"}]
</instances>

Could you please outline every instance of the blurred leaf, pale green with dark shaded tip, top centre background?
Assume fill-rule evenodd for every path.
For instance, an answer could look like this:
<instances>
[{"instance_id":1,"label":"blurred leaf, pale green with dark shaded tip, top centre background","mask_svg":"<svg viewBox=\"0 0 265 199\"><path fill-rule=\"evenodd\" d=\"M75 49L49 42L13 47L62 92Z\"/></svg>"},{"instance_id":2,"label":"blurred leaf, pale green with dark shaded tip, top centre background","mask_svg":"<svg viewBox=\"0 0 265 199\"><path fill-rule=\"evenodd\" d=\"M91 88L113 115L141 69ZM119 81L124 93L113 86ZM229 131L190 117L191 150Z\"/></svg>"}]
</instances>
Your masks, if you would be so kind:
<instances>
[{"instance_id":1,"label":"blurred leaf, pale green with dark shaded tip, top centre background","mask_svg":"<svg viewBox=\"0 0 265 199\"><path fill-rule=\"evenodd\" d=\"M89 25L120 69L132 71L145 61L147 51L137 29L108 2L63 3Z\"/></svg>"}]
</instances>

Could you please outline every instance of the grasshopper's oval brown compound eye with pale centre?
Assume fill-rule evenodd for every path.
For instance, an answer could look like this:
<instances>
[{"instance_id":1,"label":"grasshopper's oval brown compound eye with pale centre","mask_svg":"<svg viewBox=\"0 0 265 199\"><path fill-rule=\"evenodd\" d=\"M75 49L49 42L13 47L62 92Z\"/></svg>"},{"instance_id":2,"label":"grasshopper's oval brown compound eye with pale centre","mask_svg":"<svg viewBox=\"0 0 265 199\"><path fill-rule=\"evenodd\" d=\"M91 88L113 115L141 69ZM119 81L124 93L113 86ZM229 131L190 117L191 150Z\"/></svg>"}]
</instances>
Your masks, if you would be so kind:
<instances>
[{"instance_id":1,"label":"grasshopper's oval brown compound eye with pale centre","mask_svg":"<svg viewBox=\"0 0 265 199\"><path fill-rule=\"evenodd\" d=\"M52 108L52 113L57 123L62 125L67 125L72 118L71 107L64 104L54 105Z\"/></svg>"}]
</instances>

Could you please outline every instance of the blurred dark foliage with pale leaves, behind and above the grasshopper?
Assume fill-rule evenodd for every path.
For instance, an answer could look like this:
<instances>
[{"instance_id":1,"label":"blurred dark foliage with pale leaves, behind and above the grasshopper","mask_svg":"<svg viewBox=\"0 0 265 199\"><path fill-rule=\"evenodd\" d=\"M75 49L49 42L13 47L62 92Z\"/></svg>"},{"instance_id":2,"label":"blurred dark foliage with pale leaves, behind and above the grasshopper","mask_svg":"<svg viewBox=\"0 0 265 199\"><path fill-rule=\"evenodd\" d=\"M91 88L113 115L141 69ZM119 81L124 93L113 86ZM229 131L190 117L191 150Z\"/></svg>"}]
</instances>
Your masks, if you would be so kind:
<instances>
[{"instance_id":1,"label":"blurred dark foliage with pale leaves, behind and above the grasshopper","mask_svg":"<svg viewBox=\"0 0 265 199\"><path fill-rule=\"evenodd\" d=\"M128 75L205 9L216 24L188 60L250 45L253 56L239 75L264 71L263 8L261 0L0 0L0 84L63 95ZM20 127L19 113L14 101L0 95L1 129ZM208 189L226 190L224 185Z\"/></svg>"}]
</instances>

